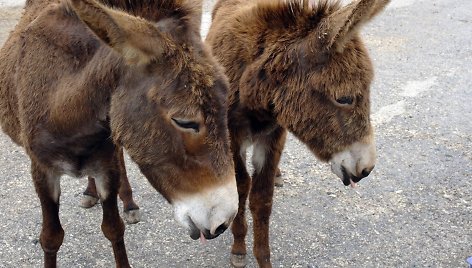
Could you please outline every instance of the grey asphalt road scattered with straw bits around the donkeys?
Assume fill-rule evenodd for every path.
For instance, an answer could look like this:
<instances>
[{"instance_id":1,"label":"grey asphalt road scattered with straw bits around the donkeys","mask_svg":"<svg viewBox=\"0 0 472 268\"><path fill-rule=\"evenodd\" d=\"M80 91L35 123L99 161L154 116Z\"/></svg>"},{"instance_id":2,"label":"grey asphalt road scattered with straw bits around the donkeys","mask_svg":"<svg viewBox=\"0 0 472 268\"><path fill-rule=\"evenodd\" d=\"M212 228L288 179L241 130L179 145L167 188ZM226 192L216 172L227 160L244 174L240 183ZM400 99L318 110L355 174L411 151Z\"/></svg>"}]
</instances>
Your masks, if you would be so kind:
<instances>
[{"instance_id":1,"label":"grey asphalt road scattered with straw bits around the donkeys","mask_svg":"<svg viewBox=\"0 0 472 268\"><path fill-rule=\"evenodd\" d=\"M0 1L0 43L19 14L12 3ZM376 70L378 163L353 190L290 137L281 164L285 186L275 192L271 221L274 267L467 267L471 34L470 0L393 0L364 28ZM41 217L29 160L3 134L0 148L0 267L40 267ZM126 230L134 267L229 266L229 232L204 245L192 241L132 163L128 172L143 209L142 222ZM112 267L101 208L78 207L86 181L61 183L60 267ZM249 261L255 267L252 255Z\"/></svg>"}]
</instances>

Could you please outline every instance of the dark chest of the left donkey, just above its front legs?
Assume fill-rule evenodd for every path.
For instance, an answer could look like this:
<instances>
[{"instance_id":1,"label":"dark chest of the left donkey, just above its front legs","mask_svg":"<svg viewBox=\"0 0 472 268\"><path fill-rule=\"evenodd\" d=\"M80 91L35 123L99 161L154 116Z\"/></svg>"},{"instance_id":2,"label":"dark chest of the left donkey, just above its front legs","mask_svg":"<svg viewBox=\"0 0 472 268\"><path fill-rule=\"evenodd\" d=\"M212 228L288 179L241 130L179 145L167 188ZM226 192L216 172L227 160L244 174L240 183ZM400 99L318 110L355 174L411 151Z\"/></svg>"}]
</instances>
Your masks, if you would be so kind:
<instances>
[{"instance_id":1,"label":"dark chest of the left donkey, just above its front legs","mask_svg":"<svg viewBox=\"0 0 472 268\"><path fill-rule=\"evenodd\" d=\"M39 129L31 151L44 165L60 174L82 177L100 172L114 150L106 124L96 123L73 134Z\"/></svg>"}]
</instances>

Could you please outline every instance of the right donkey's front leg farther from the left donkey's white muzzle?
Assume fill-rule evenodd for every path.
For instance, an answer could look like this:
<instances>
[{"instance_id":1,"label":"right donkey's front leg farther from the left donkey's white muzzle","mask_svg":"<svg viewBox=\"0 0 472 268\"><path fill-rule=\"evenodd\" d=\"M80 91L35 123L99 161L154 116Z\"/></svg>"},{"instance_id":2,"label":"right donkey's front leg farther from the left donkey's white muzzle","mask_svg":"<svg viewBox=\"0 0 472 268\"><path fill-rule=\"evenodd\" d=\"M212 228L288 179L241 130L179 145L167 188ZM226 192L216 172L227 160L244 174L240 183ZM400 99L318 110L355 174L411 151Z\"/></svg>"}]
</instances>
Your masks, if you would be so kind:
<instances>
[{"instance_id":1,"label":"right donkey's front leg farther from the left donkey's white muzzle","mask_svg":"<svg viewBox=\"0 0 472 268\"><path fill-rule=\"evenodd\" d=\"M254 175L249 196L254 228L254 256L260 267L272 267L269 249L269 217L272 211L274 177L282 154L286 131L276 129L254 143Z\"/></svg>"}]
</instances>

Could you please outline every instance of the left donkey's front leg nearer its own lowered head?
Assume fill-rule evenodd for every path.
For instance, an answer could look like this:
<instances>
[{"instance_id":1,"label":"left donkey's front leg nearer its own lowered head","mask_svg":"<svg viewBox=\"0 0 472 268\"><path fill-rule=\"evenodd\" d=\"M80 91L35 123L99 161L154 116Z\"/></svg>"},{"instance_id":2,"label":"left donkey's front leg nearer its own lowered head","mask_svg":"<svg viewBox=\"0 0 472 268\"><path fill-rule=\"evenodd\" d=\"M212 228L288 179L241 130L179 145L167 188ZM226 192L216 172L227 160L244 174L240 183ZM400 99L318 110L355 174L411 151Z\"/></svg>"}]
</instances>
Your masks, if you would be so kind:
<instances>
[{"instance_id":1,"label":"left donkey's front leg nearer its own lowered head","mask_svg":"<svg viewBox=\"0 0 472 268\"><path fill-rule=\"evenodd\" d=\"M118 212L118 188L120 186L120 169L118 149L113 157L106 176L96 176L98 195L103 208L102 232L110 240L115 255L116 267L130 267L124 243L125 225Z\"/></svg>"}]
</instances>

